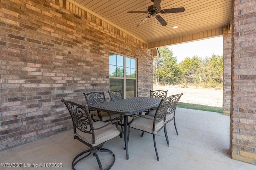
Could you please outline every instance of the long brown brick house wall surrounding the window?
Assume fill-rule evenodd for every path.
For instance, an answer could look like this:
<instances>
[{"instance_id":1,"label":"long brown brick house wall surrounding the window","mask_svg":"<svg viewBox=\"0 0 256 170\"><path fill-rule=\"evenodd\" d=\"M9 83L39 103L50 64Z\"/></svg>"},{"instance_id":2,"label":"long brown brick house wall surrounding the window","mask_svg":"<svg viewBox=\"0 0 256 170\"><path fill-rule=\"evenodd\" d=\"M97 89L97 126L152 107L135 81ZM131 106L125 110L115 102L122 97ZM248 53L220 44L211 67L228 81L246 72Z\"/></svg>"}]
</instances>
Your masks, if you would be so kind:
<instances>
[{"instance_id":1,"label":"long brown brick house wall surrounding the window","mask_svg":"<svg viewBox=\"0 0 256 170\"><path fill-rule=\"evenodd\" d=\"M62 0L1 0L0 150L72 129L61 99L107 92L109 51L138 59L138 96L148 96L145 43Z\"/></svg>"}]
</instances>

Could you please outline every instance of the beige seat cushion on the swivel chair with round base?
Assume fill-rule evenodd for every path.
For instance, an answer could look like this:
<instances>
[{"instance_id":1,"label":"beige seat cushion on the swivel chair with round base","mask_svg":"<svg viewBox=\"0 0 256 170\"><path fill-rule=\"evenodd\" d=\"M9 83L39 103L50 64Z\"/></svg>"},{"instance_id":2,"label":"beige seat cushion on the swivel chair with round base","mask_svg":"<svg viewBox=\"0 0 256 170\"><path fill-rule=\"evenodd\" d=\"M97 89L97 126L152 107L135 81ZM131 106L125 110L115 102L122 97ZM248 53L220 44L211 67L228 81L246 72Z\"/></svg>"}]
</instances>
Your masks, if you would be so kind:
<instances>
[{"instance_id":1,"label":"beige seat cushion on the swivel chair with round base","mask_svg":"<svg viewBox=\"0 0 256 170\"><path fill-rule=\"evenodd\" d=\"M97 121L93 122L94 128L99 128L107 123L103 121ZM114 125L108 125L106 127L103 127L102 129L94 130L95 134L95 144L92 143L92 134L84 133L76 128L76 135L81 138L83 141L89 143L93 147L100 145L101 143L104 143L105 141L108 141L118 135L120 135L120 131L114 126Z\"/></svg>"}]
</instances>

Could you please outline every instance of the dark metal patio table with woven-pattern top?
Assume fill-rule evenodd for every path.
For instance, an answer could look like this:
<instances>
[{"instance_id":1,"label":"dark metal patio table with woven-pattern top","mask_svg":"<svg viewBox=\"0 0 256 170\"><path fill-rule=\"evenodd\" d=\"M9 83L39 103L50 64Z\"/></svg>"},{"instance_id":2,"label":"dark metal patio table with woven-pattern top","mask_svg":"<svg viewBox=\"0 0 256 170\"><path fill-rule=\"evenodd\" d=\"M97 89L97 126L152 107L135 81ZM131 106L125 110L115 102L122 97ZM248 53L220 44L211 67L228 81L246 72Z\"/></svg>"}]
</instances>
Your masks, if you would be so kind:
<instances>
[{"instance_id":1,"label":"dark metal patio table with woven-pattern top","mask_svg":"<svg viewBox=\"0 0 256 170\"><path fill-rule=\"evenodd\" d=\"M95 109L98 111L105 111L110 113L116 113L119 115L124 115L124 143L126 149L126 158L129 159L128 152L128 136L129 131L128 127L130 123L128 123L128 116L134 115L136 113L140 113L152 107L158 106L160 104L161 99L158 98L143 98L143 97L135 97L135 98L127 98L120 99L110 102L104 102L100 104L94 104L90 106L90 109Z\"/></svg>"}]
</instances>

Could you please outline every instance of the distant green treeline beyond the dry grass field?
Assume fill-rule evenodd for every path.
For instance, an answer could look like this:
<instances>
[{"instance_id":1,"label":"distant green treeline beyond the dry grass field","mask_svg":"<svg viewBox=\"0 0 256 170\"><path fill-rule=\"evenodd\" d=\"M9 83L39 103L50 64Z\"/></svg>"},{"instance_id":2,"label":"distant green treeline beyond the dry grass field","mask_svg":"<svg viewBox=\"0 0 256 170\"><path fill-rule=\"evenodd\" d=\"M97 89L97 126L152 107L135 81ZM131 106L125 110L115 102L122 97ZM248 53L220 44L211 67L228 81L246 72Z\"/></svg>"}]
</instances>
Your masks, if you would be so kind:
<instances>
[{"instance_id":1,"label":"distant green treeline beyond the dry grass field","mask_svg":"<svg viewBox=\"0 0 256 170\"><path fill-rule=\"evenodd\" d=\"M223 56L212 55L204 59L187 57L177 63L168 47L159 48L160 57L154 58L154 82L156 85L200 84L201 86L222 86Z\"/></svg>"}]
</instances>

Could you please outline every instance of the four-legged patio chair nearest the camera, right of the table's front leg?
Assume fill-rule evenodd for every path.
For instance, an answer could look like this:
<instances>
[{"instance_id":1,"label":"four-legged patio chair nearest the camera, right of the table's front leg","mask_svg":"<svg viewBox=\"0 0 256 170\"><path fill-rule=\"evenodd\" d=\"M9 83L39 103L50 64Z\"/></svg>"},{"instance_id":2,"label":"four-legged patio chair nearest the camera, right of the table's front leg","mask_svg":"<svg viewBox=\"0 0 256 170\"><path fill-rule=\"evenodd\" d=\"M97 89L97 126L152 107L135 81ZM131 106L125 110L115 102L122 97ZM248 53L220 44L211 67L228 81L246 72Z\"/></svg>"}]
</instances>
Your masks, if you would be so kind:
<instances>
[{"instance_id":1,"label":"four-legged patio chair nearest the camera, right of the table's front leg","mask_svg":"<svg viewBox=\"0 0 256 170\"><path fill-rule=\"evenodd\" d=\"M154 117L150 115L137 115L138 117L130 124L130 127L132 128L153 134L157 160L159 160L159 156L156 149L156 134L164 127L164 119L166 117L170 99L171 96L161 100ZM169 143L167 133L165 134L165 137L166 142Z\"/></svg>"}]
</instances>

